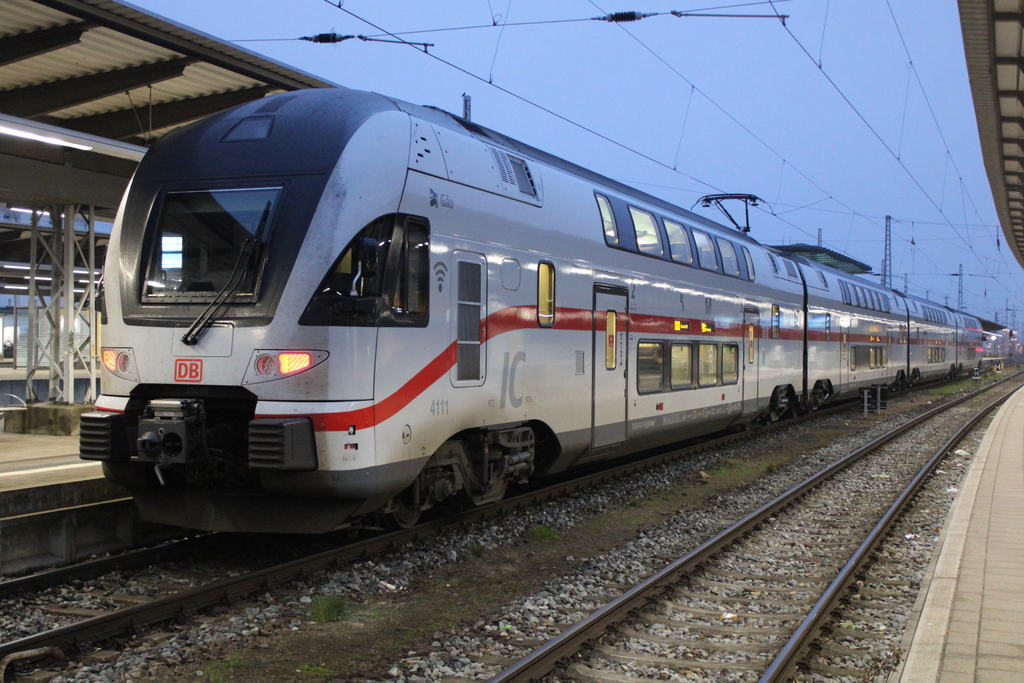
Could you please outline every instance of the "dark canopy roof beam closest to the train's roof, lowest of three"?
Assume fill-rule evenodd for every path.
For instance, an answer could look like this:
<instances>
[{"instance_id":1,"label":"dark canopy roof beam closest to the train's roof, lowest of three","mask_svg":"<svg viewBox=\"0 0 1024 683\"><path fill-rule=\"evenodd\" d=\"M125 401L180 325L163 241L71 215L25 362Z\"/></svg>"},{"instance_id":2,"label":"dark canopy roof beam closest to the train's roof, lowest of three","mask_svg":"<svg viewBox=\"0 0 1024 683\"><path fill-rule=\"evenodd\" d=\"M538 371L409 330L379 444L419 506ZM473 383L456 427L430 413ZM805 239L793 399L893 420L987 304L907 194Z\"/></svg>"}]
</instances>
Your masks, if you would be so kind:
<instances>
[{"instance_id":1,"label":"dark canopy roof beam closest to the train's roof, lowest of three","mask_svg":"<svg viewBox=\"0 0 1024 683\"><path fill-rule=\"evenodd\" d=\"M221 92L215 95L162 102L154 104L152 108L139 106L134 110L127 109L75 119L54 119L47 121L47 123L115 140L138 135L144 137L151 130L160 130L186 121L194 121L237 104L259 99L270 89L269 86L246 88L245 90Z\"/></svg>"}]
</instances>

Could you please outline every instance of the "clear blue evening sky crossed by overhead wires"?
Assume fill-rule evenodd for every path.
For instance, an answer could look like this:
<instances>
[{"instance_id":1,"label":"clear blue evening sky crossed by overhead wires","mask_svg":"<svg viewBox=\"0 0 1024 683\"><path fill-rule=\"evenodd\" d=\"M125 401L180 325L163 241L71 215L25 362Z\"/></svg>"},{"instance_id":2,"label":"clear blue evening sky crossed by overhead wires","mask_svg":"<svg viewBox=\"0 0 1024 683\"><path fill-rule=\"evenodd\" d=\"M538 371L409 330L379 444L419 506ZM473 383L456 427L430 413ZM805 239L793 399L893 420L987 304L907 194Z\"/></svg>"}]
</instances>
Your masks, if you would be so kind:
<instances>
[{"instance_id":1,"label":"clear blue evening sky crossed by overhead wires","mask_svg":"<svg viewBox=\"0 0 1024 683\"><path fill-rule=\"evenodd\" d=\"M766 244L814 244L820 228L824 246L878 271L891 215L895 288L906 274L911 294L955 307L949 273L963 264L966 310L1006 321L1009 300L1024 323L1021 269L997 226L953 0L135 4L346 87L455 113L468 93L475 122L685 208L706 194L758 195L770 211L752 212L752 236ZM625 10L788 18L570 20ZM374 25L432 43L429 55L295 40L382 36ZM484 28L404 33L469 26Z\"/></svg>"}]
</instances>

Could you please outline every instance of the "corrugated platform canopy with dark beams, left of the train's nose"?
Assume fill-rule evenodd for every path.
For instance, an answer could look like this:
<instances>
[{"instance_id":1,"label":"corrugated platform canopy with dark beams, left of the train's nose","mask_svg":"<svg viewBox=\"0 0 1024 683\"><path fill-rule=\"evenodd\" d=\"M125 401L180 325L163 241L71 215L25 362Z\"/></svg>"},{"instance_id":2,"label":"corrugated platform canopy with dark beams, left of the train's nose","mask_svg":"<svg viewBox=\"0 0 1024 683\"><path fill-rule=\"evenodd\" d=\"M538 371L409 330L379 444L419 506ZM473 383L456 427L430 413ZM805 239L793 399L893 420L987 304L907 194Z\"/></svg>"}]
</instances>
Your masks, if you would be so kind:
<instances>
[{"instance_id":1,"label":"corrugated platform canopy with dark beams, left of the train's nose","mask_svg":"<svg viewBox=\"0 0 1024 683\"><path fill-rule=\"evenodd\" d=\"M0 264L28 262L13 210L93 206L111 219L162 135L324 87L335 84L127 3L0 0Z\"/></svg>"}]
</instances>

